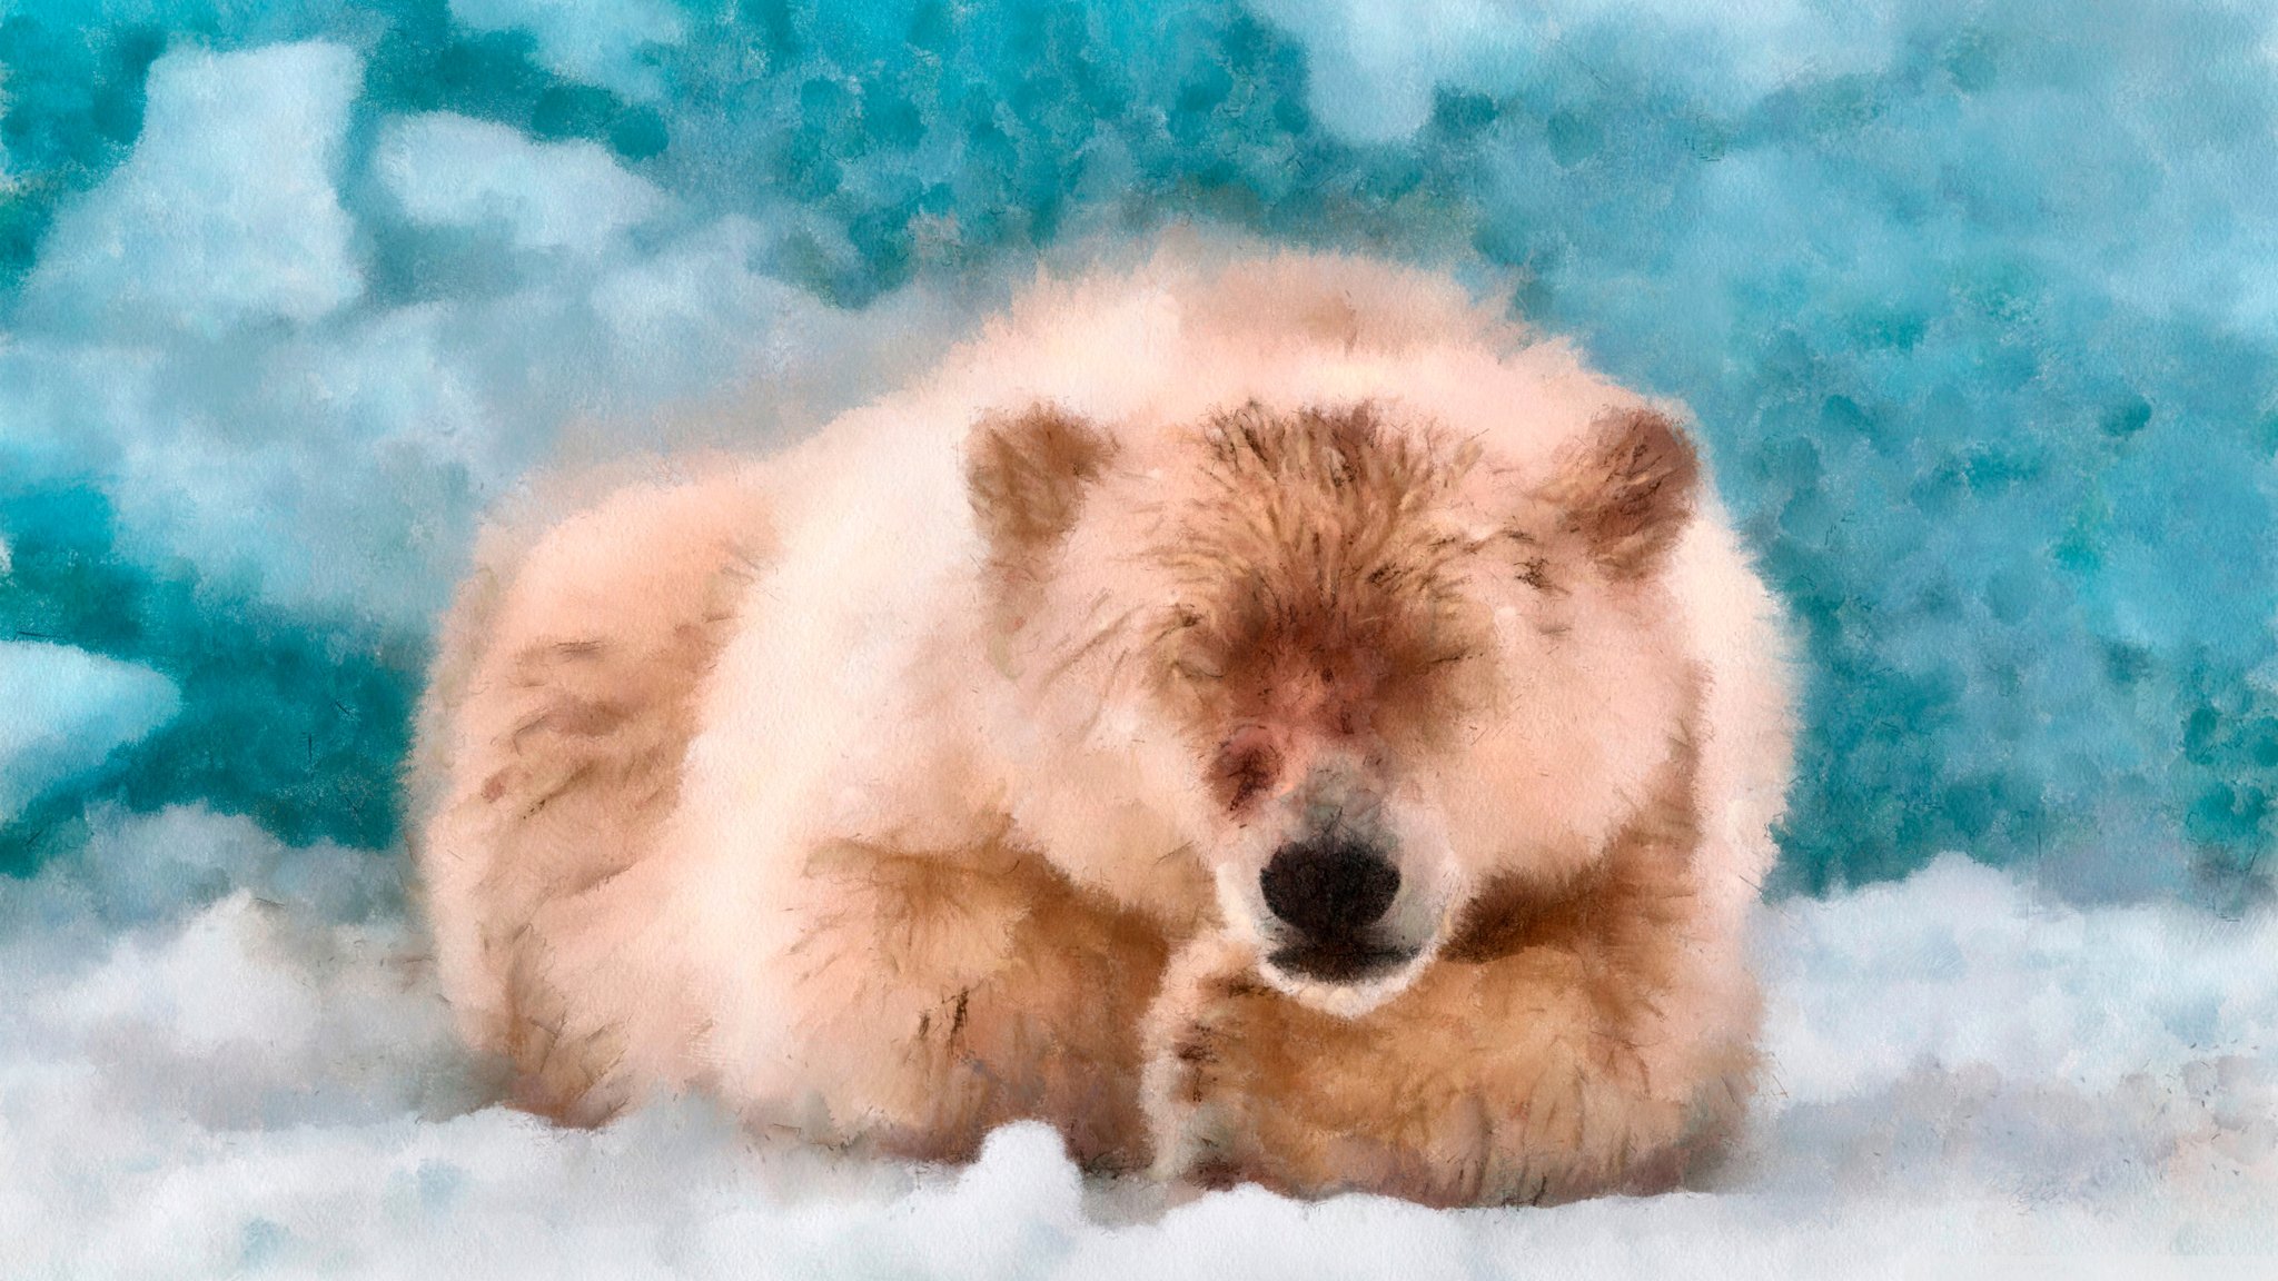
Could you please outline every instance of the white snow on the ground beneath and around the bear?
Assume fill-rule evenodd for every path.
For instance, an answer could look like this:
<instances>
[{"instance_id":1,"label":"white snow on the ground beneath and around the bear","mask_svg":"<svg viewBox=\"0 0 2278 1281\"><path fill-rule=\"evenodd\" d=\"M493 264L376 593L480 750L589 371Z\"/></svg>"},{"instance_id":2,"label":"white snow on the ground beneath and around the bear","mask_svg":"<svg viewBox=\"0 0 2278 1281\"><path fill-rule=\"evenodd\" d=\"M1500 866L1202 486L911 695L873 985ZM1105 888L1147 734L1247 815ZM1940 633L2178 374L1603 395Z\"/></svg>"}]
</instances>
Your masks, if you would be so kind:
<instances>
[{"instance_id":1,"label":"white snow on the ground beneath and around the bear","mask_svg":"<svg viewBox=\"0 0 2278 1281\"><path fill-rule=\"evenodd\" d=\"M2278 921L2068 907L1959 857L1765 912L1772 1074L1706 1188L1435 1213L1084 1181L1034 1124L964 1169L770 1147L702 1099L554 1128L485 1105L385 894L319 912L276 880L385 859L196 809L98 843L107 871L0 891L0 923L46 923L0 935L0 1240L36 1276L2096 1276L2278 1249ZM239 884L91 921L137 859Z\"/></svg>"}]
</instances>

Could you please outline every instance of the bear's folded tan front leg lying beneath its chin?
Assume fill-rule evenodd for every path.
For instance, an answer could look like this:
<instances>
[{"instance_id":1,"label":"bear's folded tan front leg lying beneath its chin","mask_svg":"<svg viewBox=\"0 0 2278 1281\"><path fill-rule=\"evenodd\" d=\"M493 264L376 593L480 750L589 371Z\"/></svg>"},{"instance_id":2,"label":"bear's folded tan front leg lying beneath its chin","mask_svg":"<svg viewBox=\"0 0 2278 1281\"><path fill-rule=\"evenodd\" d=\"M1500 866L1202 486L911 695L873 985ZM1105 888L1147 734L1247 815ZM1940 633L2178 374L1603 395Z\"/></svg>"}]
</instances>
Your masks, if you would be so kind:
<instances>
[{"instance_id":1,"label":"bear's folded tan front leg lying beneath its chin","mask_svg":"<svg viewBox=\"0 0 2278 1281\"><path fill-rule=\"evenodd\" d=\"M1267 987L1244 944L1196 939L1148 1017L1155 1172L1433 1206L1667 1190L1731 1133L1754 1053L1649 1046L1585 971L1554 948L1442 960L1342 1019Z\"/></svg>"}]
</instances>

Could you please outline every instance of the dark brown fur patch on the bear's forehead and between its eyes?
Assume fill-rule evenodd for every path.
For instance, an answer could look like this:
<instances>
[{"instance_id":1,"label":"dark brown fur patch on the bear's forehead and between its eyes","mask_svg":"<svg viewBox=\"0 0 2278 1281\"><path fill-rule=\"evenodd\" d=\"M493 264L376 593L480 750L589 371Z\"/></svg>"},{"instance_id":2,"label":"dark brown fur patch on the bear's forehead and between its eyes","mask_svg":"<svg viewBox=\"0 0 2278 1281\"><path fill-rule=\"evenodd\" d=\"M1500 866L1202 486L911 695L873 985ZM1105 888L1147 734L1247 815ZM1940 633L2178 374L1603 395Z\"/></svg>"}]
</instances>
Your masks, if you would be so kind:
<instances>
[{"instance_id":1,"label":"dark brown fur patch on the bear's forehead and between its eyes","mask_svg":"<svg viewBox=\"0 0 2278 1281\"><path fill-rule=\"evenodd\" d=\"M1467 545L1433 520L1467 458L1371 406L1246 406L1203 444L1203 497L1155 552L1182 588L1162 672L1196 736L1278 725L1415 745L1451 723L1472 688L1453 668L1490 652L1449 574ZM1228 795L1260 766L1230 754Z\"/></svg>"}]
</instances>

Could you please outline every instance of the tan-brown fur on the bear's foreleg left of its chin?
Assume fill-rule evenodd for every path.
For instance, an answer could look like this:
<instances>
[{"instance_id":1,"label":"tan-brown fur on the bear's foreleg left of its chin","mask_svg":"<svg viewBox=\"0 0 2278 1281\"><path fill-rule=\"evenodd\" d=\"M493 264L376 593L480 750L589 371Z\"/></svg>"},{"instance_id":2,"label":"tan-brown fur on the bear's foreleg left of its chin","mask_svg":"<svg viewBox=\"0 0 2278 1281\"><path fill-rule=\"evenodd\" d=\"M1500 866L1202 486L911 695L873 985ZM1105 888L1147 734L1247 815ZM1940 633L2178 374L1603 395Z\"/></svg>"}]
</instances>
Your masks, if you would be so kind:
<instances>
[{"instance_id":1,"label":"tan-brown fur on the bear's foreleg left of its chin","mask_svg":"<svg viewBox=\"0 0 2278 1281\"><path fill-rule=\"evenodd\" d=\"M825 1012L806 1033L870 1046L879 1115L861 1121L877 1147L970 1160L991 1128L1043 1119L1080 1165L1146 1165L1139 1019L1169 953L1160 930L1005 846L834 846L809 873L834 912L790 957ZM895 1010L916 1014L895 1028Z\"/></svg>"}]
</instances>

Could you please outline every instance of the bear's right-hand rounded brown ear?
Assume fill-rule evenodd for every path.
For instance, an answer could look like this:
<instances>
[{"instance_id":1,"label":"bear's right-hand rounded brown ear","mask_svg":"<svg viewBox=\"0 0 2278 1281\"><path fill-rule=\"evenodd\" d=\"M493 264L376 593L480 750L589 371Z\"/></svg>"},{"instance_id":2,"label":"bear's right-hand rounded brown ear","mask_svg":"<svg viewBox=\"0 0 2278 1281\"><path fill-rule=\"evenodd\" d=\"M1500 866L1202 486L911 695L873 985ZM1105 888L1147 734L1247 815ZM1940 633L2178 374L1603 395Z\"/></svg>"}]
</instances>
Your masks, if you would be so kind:
<instances>
[{"instance_id":1,"label":"bear's right-hand rounded brown ear","mask_svg":"<svg viewBox=\"0 0 2278 1281\"><path fill-rule=\"evenodd\" d=\"M1699 458L1677 422L1649 408L1611 410L1558 463L1544 495L1567 536L1613 579L1661 568L1699 490Z\"/></svg>"}]
</instances>

